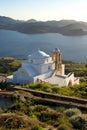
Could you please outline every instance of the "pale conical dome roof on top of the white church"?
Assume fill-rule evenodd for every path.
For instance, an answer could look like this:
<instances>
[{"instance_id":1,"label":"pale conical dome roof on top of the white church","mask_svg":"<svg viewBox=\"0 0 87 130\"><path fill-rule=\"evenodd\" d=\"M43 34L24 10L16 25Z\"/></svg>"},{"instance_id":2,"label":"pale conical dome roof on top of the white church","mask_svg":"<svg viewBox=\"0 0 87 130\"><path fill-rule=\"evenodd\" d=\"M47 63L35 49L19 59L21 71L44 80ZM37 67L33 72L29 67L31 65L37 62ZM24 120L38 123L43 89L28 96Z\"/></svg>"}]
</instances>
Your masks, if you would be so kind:
<instances>
[{"instance_id":1,"label":"pale conical dome roof on top of the white church","mask_svg":"<svg viewBox=\"0 0 87 130\"><path fill-rule=\"evenodd\" d=\"M48 54L46 54L45 52L40 51L40 50L38 50L28 56L29 59L45 59L45 58L49 58L49 57L50 56Z\"/></svg>"}]
</instances>

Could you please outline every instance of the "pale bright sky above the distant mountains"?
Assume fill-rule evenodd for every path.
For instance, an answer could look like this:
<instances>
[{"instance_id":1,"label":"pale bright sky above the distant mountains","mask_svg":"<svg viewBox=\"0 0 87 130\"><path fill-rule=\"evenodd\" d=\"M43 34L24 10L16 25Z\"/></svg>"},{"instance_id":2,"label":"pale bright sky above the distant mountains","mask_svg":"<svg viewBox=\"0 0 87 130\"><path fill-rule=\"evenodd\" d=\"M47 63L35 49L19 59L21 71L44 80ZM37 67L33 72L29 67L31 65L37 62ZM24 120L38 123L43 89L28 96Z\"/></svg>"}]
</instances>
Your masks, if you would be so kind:
<instances>
[{"instance_id":1,"label":"pale bright sky above the distant mountains","mask_svg":"<svg viewBox=\"0 0 87 130\"><path fill-rule=\"evenodd\" d=\"M18 20L87 22L87 0L0 0L0 15Z\"/></svg>"}]
</instances>

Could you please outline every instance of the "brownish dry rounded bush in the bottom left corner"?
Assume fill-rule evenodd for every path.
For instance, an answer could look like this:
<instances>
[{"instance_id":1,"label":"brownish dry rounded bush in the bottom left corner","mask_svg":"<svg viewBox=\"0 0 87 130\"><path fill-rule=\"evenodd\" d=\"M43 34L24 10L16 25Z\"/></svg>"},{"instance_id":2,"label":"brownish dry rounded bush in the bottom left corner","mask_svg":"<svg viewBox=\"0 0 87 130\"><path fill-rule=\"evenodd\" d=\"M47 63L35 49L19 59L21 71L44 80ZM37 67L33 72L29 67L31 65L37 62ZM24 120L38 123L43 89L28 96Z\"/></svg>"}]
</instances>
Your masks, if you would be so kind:
<instances>
[{"instance_id":1,"label":"brownish dry rounded bush in the bottom left corner","mask_svg":"<svg viewBox=\"0 0 87 130\"><path fill-rule=\"evenodd\" d=\"M7 129L26 128L28 127L28 119L17 114L6 113L0 115L0 126Z\"/></svg>"}]
</instances>

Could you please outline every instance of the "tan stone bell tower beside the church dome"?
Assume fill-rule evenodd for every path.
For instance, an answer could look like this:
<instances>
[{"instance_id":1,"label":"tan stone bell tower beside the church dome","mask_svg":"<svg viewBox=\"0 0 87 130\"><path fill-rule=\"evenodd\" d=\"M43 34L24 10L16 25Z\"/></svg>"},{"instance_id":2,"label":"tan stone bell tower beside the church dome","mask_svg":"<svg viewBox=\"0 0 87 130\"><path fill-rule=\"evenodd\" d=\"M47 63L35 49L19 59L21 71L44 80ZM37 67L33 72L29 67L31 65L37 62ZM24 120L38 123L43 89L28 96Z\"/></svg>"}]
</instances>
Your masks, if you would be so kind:
<instances>
[{"instance_id":1,"label":"tan stone bell tower beside the church dome","mask_svg":"<svg viewBox=\"0 0 87 130\"><path fill-rule=\"evenodd\" d=\"M55 63L56 74L62 75L62 53L59 49L55 48L52 52L52 60Z\"/></svg>"}]
</instances>

